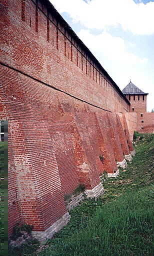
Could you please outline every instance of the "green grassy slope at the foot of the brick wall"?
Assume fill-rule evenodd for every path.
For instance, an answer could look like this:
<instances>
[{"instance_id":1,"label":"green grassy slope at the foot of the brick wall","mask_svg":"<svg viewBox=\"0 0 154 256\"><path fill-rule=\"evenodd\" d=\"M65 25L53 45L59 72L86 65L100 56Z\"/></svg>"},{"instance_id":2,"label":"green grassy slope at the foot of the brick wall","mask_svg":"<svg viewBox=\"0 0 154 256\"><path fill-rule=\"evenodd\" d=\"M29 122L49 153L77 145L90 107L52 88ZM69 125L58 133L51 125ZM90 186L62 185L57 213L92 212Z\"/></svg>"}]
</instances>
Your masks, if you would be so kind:
<instances>
[{"instance_id":1,"label":"green grassy slope at the foot of the brick wall","mask_svg":"<svg viewBox=\"0 0 154 256\"><path fill-rule=\"evenodd\" d=\"M154 255L154 136L138 134L135 139L132 163L117 178L104 182L98 200L86 199L71 210L70 222L44 242L39 253L18 255Z\"/></svg>"}]
</instances>

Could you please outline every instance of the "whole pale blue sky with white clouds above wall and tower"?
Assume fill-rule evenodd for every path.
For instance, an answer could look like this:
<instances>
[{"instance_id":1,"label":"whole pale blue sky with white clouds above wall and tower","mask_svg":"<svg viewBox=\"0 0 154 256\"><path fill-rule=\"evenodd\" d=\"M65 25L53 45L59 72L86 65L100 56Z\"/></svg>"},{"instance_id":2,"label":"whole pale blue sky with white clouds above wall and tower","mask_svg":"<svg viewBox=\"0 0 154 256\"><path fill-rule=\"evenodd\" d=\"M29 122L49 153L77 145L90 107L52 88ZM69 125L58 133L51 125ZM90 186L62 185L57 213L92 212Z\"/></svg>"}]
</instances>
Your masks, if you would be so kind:
<instances>
[{"instance_id":1,"label":"whole pale blue sky with white clouds above wall and tower","mask_svg":"<svg viewBox=\"0 0 154 256\"><path fill-rule=\"evenodd\" d=\"M154 0L50 0L122 90L131 79L154 108Z\"/></svg>"}]
</instances>

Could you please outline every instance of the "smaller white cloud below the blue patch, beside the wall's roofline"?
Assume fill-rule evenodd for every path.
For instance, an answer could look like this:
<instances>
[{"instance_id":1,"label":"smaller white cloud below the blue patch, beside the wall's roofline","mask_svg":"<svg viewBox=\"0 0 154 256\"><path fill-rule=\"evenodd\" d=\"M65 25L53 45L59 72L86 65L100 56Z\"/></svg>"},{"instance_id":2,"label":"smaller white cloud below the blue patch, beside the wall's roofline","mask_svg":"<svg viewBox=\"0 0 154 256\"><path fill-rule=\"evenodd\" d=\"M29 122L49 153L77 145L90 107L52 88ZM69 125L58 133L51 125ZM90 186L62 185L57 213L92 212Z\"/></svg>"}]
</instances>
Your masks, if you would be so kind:
<instances>
[{"instance_id":1,"label":"smaller white cloud below the blue patch, beside the wall's roofline","mask_svg":"<svg viewBox=\"0 0 154 256\"><path fill-rule=\"evenodd\" d=\"M107 32L93 35L90 31L82 29L77 35L100 61L104 56L122 65L146 64L148 61L146 58L127 52L124 40L120 37L113 37Z\"/></svg>"}]
</instances>

